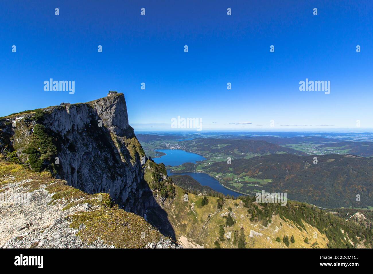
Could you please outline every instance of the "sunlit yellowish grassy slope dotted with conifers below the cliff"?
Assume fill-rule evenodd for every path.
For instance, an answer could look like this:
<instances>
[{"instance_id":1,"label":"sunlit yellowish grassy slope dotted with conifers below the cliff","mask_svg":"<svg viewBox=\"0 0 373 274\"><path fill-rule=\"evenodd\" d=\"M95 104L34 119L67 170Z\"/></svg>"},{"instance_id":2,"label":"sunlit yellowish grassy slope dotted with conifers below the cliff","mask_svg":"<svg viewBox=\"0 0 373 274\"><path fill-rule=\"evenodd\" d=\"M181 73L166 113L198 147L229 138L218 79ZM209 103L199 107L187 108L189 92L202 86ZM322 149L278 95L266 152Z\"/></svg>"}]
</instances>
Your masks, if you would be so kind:
<instances>
[{"instance_id":1,"label":"sunlit yellowish grassy slope dotted with conifers below the cliff","mask_svg":"<svg viewBox=\"0 0 373 274\"><path fill-rule=\"evenodd\" d=\"M283 238L288 235L289 239L294 235L295 243L290 244L290 248L311 248L314 247L326 248L328 239L320 233L315 227L305 224L307 232L295 227L291 221L285 223L278 216L273 217L272 223L266 228L258 222L251 222L247 216L247 208L243 206L240 200L226 199L222 209L217 210L217 200L215 197L208 197L209 204L204 207L201 206L202 196L188 194L188 202L184 201L185 190L175 186L176 195L173 203L166 207L165 210L169 213L169 220L172 223L176 236L178 239L185 236L189 242L197 243L204 246L204 248L214 248L214 242L219 238L219 225L225 225L226 218L221 217L220 214L228 212L228 208L232 208L235 214L236 223L232 227L225 227L225 232L232 231L232 239L220 242L222 248L235 248L233 245L233 231L240 231L241 227L245 230L245 240L249 248L286 248L286 245L281 242L276 242L276 237ZM191 210L192 203L194 211ZM235 204L238 204L236 207ZM210 215L210 218L209 218ZM233 215L233 214L232 214ZM282 225L280 224L282 223ZM250 237L250 232L259 232L261 236ZM313 233L317 232L317 239L313 238ZM267 238L268 237L268 238ZM304 242L308 237L309 244Z\"/></svg>"}]
</instances>

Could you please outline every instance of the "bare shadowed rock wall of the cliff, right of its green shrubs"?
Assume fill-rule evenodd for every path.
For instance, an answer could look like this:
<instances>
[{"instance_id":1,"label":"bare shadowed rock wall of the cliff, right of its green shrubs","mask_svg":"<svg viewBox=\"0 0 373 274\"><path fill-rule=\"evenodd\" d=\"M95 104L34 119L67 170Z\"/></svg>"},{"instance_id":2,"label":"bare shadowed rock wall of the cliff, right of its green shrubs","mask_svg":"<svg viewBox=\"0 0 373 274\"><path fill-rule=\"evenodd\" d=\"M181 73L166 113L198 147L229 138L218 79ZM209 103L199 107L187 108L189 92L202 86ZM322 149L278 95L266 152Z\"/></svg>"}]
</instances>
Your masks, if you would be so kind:
<instances>
[{"instance_id":1,"label":"bare shadowed rock wall of the cliff, right of its green shrubs","mask_svg":"<svg viewBox=\"0 0 373 274\"><path fill-rule=\"evenodd\" d=\"M141 182L144 151L128 125L123 94L58 107L43 125L59 134L59 175L88 193L108 192L130 210Z\"/></svg>"}]
</instances>

